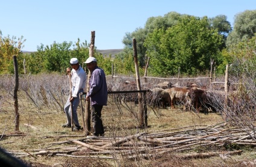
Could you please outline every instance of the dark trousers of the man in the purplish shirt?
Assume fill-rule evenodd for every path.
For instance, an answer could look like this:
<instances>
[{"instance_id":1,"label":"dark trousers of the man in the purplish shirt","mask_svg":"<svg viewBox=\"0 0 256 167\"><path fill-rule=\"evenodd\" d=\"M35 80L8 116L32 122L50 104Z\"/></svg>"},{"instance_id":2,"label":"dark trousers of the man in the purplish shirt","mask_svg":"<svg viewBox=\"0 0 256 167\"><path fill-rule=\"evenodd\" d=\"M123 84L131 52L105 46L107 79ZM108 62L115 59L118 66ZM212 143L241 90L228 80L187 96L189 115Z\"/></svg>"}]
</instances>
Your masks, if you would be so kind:
<instances>
[{"instance_id":1,"label":"dark trousers of the man in the purplish shirt","mask_svg":"<svg viewBox=\"0 0 256 167\"><path fill-rule=\"evenodd\" d=\"M104 127L101 120L101 110L103 106L92 105L92 126L94 128L94 135L104 135Z\"/></svg>"}]
</instances>

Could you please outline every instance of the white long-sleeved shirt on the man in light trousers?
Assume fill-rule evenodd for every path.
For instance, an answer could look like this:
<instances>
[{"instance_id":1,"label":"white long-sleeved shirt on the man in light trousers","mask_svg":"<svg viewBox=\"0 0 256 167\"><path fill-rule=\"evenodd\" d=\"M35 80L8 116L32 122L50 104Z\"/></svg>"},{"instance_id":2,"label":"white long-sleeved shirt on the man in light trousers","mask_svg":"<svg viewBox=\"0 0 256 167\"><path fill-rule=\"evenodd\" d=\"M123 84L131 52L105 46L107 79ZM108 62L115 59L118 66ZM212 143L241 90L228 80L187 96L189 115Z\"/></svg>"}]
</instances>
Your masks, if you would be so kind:
<instances>
[{"instance_id":1,"label":"white long-sleeved shirt on the man in light trousers","mask_svg":"<svg viewBox=\"0 0 256 167\"><path fill-rule=\"evenodd\" d=\"M77 70L71 70L71 82L74 87L72 97L77 97L78 91L81 89L85 90L86 86L86 73L80 65Z\"/></svg>"}]
</instances>

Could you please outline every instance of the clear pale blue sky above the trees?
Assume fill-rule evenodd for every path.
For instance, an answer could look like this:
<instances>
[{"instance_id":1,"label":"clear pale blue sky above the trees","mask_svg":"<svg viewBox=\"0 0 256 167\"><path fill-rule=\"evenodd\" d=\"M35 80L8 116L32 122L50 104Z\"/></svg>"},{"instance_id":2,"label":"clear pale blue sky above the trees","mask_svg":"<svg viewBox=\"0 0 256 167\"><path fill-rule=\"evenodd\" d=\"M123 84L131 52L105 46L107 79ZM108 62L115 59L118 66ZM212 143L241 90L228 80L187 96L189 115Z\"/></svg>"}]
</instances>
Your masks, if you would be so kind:
<instances>
[{"instance_id":1,"label":"clear pale blue sky above the trees","mask_svg":"<svg viewBox=\"0 0 256 167\"><path fill-rule=\"evenodd\" d=\"M95 31L97 49L123 49L126 32L144 28L149 17L171 11L193 16L215 17L223 14L233 25L235 14L256 10L255 0L0 0L0 30L6 37L26 39L26 51L63 41L91 41Z\"/></svg>"}]
</instances>

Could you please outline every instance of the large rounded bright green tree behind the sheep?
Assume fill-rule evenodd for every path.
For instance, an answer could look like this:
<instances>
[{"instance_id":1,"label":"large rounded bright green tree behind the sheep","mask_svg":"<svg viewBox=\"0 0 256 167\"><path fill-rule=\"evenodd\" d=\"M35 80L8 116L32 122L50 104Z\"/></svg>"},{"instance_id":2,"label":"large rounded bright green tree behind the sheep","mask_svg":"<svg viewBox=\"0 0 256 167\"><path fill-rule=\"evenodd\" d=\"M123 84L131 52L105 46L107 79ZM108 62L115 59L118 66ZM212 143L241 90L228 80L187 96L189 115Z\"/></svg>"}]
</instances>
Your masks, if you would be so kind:
<instances>
[{"instance_id":1,"label":"large rounded bright green tree behind the sheep","mask_svg":"<svg viewBox=\"0 0 256 167\"><path fill-rule=\"evenodd\" d=\"M210 59L219 53L222 36L210 27L207 17L182 17L176 25L155 29L145 41L150 56L149 71L168 76L182 73L196 74L210 68Z\"/></svg>"}]
</instances>

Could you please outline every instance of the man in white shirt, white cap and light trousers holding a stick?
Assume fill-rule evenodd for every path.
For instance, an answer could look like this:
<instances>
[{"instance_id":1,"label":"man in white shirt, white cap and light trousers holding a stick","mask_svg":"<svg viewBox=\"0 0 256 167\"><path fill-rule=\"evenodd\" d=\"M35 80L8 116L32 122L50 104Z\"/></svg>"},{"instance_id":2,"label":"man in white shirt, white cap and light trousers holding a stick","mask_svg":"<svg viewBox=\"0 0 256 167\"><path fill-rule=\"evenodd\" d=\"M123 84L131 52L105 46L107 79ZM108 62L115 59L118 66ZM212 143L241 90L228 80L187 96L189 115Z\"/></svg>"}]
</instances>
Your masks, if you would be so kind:
<instances>
[{"instance_id":1,"label":"man in white shirt, white cap and light trousers holding a stick","mask_svg":"<svg viewBox=\"0 0 256 167\"><path fill-rule=\"evenodd\" d=\"M73 122L75 127L73 130L80 130L82 127L80 126L77 118L77 107L79 105L79 94L85 90L86 86L86 73L85 70L79 65L77 58L71 58L70 68L66 68L66 73L71 73L71 83L72 83L72 96L68 97L66 101L66 105L64 106L64 111L66 113L67 123L63 124L62 127L71 127L71 111L73 111ZM72 110L71 104L72 103Z\"/></svg>"}]
</instances>

